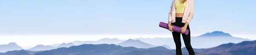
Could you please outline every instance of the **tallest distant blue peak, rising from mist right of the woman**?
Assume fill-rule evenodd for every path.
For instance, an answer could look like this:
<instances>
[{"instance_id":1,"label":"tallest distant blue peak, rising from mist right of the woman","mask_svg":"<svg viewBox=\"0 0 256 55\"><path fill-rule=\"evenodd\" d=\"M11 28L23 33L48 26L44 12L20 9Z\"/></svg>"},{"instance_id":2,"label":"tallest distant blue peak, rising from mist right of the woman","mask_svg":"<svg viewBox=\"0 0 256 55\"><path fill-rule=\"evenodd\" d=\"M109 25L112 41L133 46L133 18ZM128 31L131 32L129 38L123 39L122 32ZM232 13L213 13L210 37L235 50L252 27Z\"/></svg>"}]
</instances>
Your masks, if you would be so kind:
<instances>
[{"instance_id":1,"label":"tallest distant blue peak, rising from mist right of the woman","mask_svg":"<svg viewBox=\"0 0 256 55\"><path fill-rule=\"evenodd\" d=\"M211 33L205 33L198 37L232 37L229 33L224 33L222 31L213 31Z\"/></svg>"}]
</instances>

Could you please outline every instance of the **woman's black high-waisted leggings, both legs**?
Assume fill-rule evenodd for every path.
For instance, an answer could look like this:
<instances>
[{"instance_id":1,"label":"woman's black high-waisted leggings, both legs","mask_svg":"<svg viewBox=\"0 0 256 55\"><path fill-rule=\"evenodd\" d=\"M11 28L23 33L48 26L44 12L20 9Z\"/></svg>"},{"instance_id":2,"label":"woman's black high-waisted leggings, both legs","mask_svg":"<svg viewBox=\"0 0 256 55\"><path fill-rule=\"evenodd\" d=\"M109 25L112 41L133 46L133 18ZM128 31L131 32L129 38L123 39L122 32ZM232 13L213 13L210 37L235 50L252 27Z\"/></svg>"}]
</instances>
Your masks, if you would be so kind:
<instances>
[{"instance_id":1,"label":"woman's black high-waisted leggings, both legs","mask_svg":"<svg viewBox=\"0 0 256 55\"><path fill-rule=\"evenodd\" d=\"M176 19L176 21L174 23L171 23L172 25L176 25L178 27L183 27L185 25L185 23L181 22L182 21L182 17L176 17L175 19ZM189 55L195 55L195 52L194 52L194 50L193 50L193 48L192 48L192 46L190 44L190 29L189 29L189 25L187 26L186 29L189 30L189 34L188 35L182 34L183 41L185 43L186 49L189 52ZM173 36L173 39L174 39L174 42L175 42L175 45L176 45L176 55L182 55L180 34L181 33L172 32L172 36Z\"/></svg>"}]
</instances>

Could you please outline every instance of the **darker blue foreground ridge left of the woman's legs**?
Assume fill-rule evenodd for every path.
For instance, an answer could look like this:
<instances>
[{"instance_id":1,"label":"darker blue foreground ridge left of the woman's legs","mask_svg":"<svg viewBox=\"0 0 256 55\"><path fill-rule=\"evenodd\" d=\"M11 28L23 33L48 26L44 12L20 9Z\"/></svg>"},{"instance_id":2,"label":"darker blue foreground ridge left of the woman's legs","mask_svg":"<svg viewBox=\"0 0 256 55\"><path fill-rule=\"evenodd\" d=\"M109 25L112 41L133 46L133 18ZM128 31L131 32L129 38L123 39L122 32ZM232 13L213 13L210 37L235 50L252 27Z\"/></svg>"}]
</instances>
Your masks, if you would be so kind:
<instances>
[{"instance_id":1,"label":"darker blue foreground ridge left of the woman's legs","mask_svg":"<svg viewBox=\"0 0 256 55\"><path fill-rule=\"evenodd\" d=\"M120 55L120 54L134 54L133 51L154 51L151 53L154 54L168 54L169 49L165 47L152 47L148 49L144 48L135 48L135 47L122 47L115 44L82 44L79 46L72 47L61 47L53 50L39 51L33 53L32 51L19 50L17 51L9 51L13 53L6 52L2 55L10 55L17 53L24 53L24 55ZM163 52L164 51L164 52ZM32 52L32 53L31 53ZM143 53L145 54L145 53ZM147 53L148 54L148 53ZM174 52L170 52L169 54L174 54Z\"/></svg>"}]
</instances>

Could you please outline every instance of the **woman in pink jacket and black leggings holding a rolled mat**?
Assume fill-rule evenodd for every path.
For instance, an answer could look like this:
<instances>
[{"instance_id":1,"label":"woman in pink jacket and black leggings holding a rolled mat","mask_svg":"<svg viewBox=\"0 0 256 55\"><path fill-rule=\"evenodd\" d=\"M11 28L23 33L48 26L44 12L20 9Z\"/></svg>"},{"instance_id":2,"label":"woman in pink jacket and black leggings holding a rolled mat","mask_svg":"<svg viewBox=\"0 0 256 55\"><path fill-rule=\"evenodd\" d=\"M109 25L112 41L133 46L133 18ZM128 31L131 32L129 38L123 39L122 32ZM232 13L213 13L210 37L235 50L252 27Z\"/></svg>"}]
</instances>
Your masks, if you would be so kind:
<instances>
[{"instance_id":1,"label":"woman in pink jacket and black leggings holding a rolled mat","mask_svg":"<svg viewBox=\"0 0 256 55\"><path fill-rule=\"evenodd\" d=\"M181 27L181 33L184 33L186 29L189 30L188 35L182 34L186 49L189 55L195 55L194 50L190 44L190 29L189 22L194 16L194 0L173 0L169 11L168 29L172 31L173 26ZM172 31L172 36L176 45L176 55L182 55L180 34Z\"/></svg>"}]
</instances>

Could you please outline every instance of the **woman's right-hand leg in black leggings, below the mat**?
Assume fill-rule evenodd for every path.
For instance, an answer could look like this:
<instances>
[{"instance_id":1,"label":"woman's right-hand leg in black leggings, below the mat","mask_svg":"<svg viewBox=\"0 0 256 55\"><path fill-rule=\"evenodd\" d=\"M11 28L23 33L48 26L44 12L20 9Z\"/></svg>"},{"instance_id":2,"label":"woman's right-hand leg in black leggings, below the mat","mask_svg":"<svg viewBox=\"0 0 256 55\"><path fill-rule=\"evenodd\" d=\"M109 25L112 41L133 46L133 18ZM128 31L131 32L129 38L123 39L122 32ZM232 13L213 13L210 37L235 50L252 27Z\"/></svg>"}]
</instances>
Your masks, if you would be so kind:
<instances>
[{"instance_id":1,"label":"woman's right-hand leg in black leggings, below the mat","mask_svg":"<svg viewBox=\"0 0 256 55\"><path fill-rule=\"evenodd\" d=\"M187 29L189 30L189 34L188 35L182 34L183 41L184 41L184 44L186 46L186 49L189 52L189 55L195 55L195 52L194 52L194 50L193 50L193 48L191 46L191 43L190 43L190 29L189 29L189 25L187 26Z\"/></svg>"}]
</instances>

